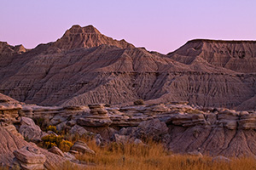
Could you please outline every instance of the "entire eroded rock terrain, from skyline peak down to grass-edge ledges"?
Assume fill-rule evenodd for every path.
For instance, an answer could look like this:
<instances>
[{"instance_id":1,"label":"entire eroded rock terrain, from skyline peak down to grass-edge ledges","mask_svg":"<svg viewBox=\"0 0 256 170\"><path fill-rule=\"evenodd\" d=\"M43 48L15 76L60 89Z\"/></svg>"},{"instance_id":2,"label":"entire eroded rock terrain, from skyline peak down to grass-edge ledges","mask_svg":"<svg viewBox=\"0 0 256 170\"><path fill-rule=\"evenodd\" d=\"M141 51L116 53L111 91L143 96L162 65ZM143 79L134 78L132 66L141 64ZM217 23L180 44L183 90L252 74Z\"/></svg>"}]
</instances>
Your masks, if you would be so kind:
<instances>
[{"instance_id":1,"label":"entire eroded rock terrain, from skyline peak down to grass-edge ledges","mask_svg":"<svg viewBox=\"0 0 256 170\"><path fill-rule=\"evenodd\" d=\"M96 154L83 141L64 152L38 147L58 135L33 120L98 145L150 138L173 153L255 156L255 62L253 41L197 39L160 54L94 26L72 26L33 49L0 42L0 162L83 167L73 155Z\"/></svg>"}]
</instances>

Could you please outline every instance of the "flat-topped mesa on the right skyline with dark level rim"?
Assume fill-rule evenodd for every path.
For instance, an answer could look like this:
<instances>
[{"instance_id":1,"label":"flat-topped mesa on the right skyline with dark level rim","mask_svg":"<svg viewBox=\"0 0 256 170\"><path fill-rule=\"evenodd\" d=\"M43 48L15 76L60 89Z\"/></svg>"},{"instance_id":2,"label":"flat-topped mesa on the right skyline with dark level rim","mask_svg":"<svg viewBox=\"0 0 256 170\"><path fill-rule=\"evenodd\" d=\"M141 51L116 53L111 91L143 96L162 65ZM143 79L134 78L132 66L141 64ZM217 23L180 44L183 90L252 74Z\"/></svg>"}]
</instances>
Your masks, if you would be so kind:
<instances>
[{"instance_id":1,"label":"flat-topped mesa on the right skyline with dark level rim","mask_svg":"<svg viewBox=\"0 0 256 170\"><path fill-rule=\"evenodd\" d=\"M195 39L168 56L189 65L208 63L232 71L256 72L256 41Z\"/></svg>"}]
</instances>

